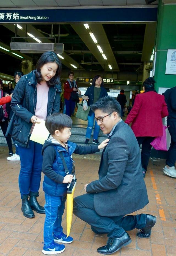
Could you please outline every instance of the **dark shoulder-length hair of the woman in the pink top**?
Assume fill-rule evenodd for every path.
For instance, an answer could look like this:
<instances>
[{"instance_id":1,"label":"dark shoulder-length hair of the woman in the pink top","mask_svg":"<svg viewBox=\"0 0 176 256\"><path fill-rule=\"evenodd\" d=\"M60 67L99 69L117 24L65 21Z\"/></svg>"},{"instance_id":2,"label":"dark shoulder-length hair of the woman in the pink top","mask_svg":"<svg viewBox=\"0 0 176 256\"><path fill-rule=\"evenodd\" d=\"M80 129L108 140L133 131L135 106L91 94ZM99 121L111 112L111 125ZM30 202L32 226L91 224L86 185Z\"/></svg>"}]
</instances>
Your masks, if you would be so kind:
<instances>
[{"instance_id":1,"label":"dark shoulder-length hair of the woman in the pink top","mask_svg":"<svg viewBox=\"0 0 176 256\"><path fill-rule=\"evenodd\" d=\"M61 74L62 65L61 65L61 61L56 53L54 53L52 51L47 51L46 53L42 54L42 56L40 57L40 59L37 62L37 65L36 65L37 70L35 73L35 77L37 79L37 83L40 83L42 81L42 75L40 73L40 69L44 64L46 64L48 62L56 62L57 66L58 66L54 77L52 77L49 81L46 81L48 87L51 87L53 85L59 84L59 82L60 82L60 74Z\"/></svg>"}]
</instances>

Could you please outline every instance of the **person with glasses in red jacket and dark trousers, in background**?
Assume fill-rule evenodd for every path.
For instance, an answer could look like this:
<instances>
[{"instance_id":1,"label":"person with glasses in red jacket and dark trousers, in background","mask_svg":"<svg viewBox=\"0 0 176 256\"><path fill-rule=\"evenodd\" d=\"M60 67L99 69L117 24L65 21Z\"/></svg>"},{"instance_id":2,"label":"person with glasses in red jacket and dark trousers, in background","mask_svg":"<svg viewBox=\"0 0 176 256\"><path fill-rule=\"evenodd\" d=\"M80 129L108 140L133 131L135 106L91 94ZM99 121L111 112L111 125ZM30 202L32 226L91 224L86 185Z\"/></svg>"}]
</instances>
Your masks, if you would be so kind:
<instances>
[{"instance_id":1,"label":"person with glasses in red jacket and dark trousers, in background","mask_svg":"<svg viewBox=\"0 0 176 256\"><path fill-rule=\"evenodd\" d=\"M76 102L79 102L79 96L81 92L78 90L76 80L74 80L73 71L68 72L69 79L64 83L64 101L66 107L67 116L71 116L74 113ZM64 112L63 112L64 113Z\"/></svg>"}]
</instances>

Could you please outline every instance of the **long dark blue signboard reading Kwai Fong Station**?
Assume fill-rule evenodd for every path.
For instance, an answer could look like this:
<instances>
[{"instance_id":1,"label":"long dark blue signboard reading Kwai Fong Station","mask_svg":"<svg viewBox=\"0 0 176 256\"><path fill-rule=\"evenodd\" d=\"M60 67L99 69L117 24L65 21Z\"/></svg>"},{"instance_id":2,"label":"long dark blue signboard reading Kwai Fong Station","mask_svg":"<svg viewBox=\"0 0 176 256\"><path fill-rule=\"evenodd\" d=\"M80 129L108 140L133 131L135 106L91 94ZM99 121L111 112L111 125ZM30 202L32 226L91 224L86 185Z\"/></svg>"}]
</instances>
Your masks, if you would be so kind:
<instances>
[{"instance_id":1,"label":"long dark blue signboard reading Kwai Fong Station","mask_svg":"<svg viewBox=\"0 0 176 256\"><path fill-rule=\"evenodd\" d=\"M157 8L155 7L0 10L0 23L149 22L156 20Z\"/></svg>"}]
</instances>

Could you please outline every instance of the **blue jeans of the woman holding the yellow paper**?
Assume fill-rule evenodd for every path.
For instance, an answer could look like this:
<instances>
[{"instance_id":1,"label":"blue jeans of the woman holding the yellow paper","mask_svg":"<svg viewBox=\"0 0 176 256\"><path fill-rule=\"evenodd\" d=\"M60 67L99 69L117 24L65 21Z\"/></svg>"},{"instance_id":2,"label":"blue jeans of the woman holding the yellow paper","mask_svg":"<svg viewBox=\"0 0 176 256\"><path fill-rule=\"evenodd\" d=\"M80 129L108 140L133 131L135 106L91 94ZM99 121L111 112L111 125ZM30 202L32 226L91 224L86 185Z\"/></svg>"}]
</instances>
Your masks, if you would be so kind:
<instances>
[{"instance_id":1,"label":"blue jeans of the woman holding the yellow paper","mask_svg":"<svg viewBox=\"0 0 176 256\"><path fill-rule=\"evenodd\" d=\"M29 148L18 145L21 169L19 174L19 187L21 199L28 195L38 196L42 173L42 144L29 140Z\"/></svg>"}]
</instances>

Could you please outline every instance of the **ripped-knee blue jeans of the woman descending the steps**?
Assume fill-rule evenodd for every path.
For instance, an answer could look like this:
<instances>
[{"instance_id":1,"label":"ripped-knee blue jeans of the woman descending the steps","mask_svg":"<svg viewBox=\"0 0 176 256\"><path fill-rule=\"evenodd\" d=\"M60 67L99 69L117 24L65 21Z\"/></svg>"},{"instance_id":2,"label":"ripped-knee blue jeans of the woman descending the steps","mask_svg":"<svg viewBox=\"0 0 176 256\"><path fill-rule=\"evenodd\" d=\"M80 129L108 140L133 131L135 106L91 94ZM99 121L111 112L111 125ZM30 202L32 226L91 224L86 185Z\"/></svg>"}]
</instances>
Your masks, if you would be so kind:
<instances>
[{"instance_id":1,"label":"ripped-knee blue jeans of the woman descending the steps","mask_svg":"<svg viewBox=\"0 0 176 256\"><path fill-rule=\"evenodd\" d=\"M90 139L92 129L93 129L93 126L94 126L94 117L95 117L95 114L93 112L90 114L90 116L88 116L88 126L87 126L87 130L86 130L86 139ZM94 135L93 135L94 140L98 139L99 132L100 132L100 126L95 121L95 128L94 128Z\"/></svg>"}]
</instances>

